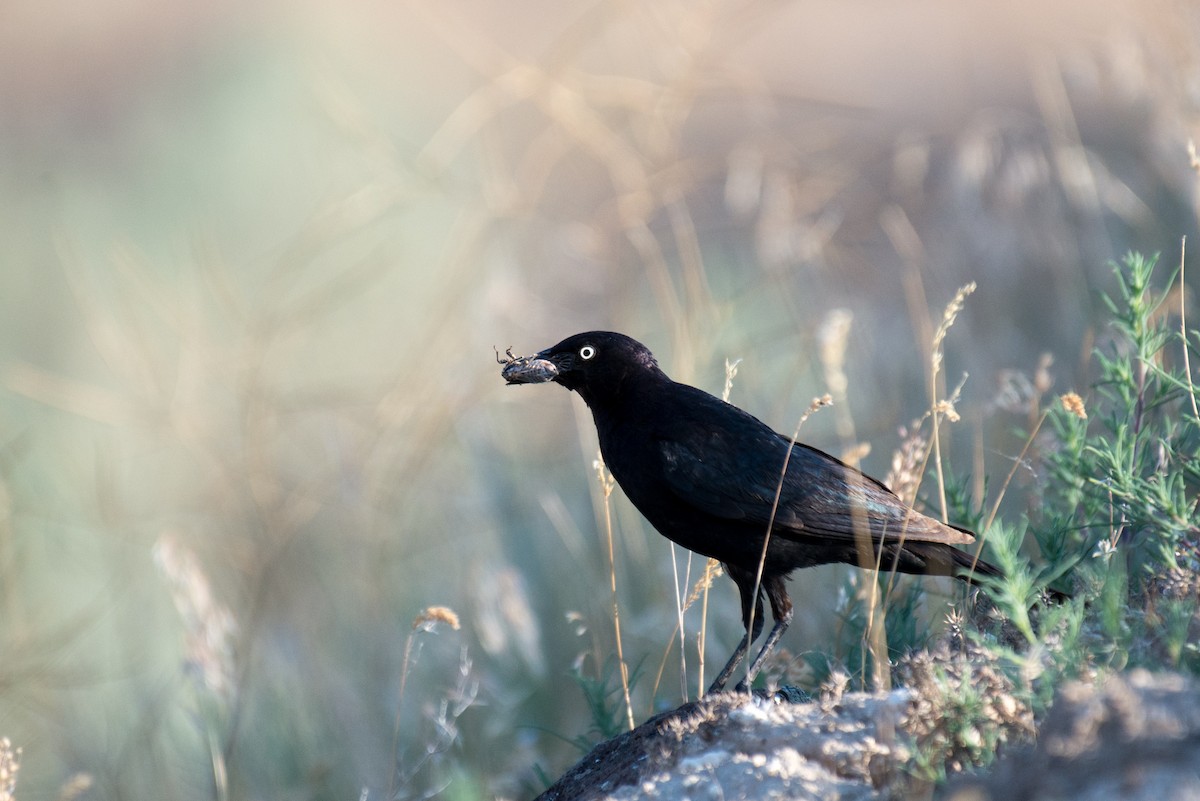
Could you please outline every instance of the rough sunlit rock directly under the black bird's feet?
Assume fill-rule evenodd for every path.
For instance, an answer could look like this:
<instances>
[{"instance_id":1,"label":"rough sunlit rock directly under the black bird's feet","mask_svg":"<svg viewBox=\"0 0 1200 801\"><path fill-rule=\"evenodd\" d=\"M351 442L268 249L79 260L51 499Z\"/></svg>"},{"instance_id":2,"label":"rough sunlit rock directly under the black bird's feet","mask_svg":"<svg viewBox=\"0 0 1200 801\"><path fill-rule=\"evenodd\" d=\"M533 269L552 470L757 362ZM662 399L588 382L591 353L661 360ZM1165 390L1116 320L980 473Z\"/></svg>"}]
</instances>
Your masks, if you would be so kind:
<instances>
[{"instance_id":1,"label":"rough sunlit rock directly under the black bird's feet","mask_svg":"<svg viewBox=\"0 0 1200 801\"><path fill-rule=\"evenodd\" d=\"M721 693L596 746L539 801L881 797L902 778L910 706L906 691L824 709Z\"/></svg>"}]
</instances>

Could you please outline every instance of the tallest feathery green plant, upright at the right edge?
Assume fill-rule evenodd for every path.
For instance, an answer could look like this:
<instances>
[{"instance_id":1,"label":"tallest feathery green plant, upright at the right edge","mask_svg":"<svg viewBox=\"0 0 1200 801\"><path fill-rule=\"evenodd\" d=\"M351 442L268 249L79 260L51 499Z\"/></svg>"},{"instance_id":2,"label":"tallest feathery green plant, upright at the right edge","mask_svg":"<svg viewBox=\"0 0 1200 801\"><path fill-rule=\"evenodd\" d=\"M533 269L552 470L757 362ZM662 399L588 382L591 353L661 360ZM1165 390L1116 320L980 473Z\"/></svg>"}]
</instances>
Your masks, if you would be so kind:
<instances>
[{"instance_id":1,"label":"tallest feathery green plant, upright at the right edge","mask_svg":"<svg viewBox=\"0 0 1200 801\"><path fill-rule=\"evenodd\" d=\"M1102 558L1120 548L1138 586L1181 564L1195 570L1200 532L1200 415L1186 372L1192 345L1170 324L1169 291L1152 289L1156 263L1130 254L1116 269L1117 295L1104 297L1112 339L1096 351L1099 377L1090 417L1098 422L1088 424L1066 406L1052 409L1060 446L1045 459L1045 495L1055 510L1046 543L1057 547L1069 532ZM1066 525L1068 516L1082 525Z\"/></svg>"}]
</instances>

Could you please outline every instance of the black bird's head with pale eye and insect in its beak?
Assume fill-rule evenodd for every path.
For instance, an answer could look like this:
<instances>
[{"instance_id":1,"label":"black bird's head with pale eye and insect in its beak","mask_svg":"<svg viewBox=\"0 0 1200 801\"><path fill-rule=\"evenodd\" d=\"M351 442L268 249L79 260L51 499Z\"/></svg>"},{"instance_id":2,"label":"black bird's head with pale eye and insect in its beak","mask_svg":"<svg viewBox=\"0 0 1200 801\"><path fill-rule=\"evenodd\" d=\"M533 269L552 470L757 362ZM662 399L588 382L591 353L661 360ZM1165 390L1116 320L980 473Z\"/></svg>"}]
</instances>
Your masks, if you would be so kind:
<instances>
[{"instance_id":1,"label":"black bird's head with pale eye and insect in its beak","mask_svg":"<svg viewBox=\"0 0 1200 801\"><path fill-rule=\"evenodd\" d=\"M533 356L510 357L500 375L509 384L554 381L578 392L592 405L593 401L617 396L631 377L662 377L662 371L649 349L636 339L611 331L588 331Z\"/></svg>"}]
</instances>

